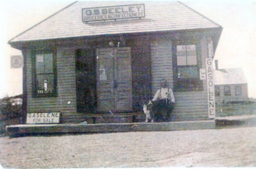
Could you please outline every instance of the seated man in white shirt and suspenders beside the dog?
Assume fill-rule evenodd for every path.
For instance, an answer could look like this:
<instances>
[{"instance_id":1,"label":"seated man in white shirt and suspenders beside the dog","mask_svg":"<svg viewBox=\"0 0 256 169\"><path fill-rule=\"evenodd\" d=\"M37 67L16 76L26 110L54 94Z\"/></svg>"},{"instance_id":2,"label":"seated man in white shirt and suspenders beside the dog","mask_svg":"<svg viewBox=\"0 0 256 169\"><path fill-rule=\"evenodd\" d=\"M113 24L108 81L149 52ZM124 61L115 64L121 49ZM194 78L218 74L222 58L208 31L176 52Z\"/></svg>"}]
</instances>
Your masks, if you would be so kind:
<instances>
[{"instance_id":1,"label":"seated man in white shirt and suspenders beside the dog","mask_svg":"<svg viewBox=\"0 0 256 169\"><path fill-rule=\"evenodd\" d=\"M157 90L154 98L152 99L155 112L155 119L159 121L170 121L170 114L173 110L173 103L175 98L172 89L167 86L165 79L160 81L161 88Z\"/></svg>"}]
</instances>

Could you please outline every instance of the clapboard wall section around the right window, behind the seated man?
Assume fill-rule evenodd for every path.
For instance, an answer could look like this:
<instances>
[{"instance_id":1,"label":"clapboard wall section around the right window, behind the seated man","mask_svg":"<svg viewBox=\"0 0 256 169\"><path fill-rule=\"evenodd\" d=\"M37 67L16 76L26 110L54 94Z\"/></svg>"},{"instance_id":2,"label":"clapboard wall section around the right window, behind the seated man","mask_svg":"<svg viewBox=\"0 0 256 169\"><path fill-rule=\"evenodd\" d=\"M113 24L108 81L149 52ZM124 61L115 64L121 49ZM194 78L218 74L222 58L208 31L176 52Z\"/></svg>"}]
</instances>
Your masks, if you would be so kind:
<instances>
[{"instance_id":1,"label":"clapboard wall section around the right window, behind the seated man","mask_svg":"<svg viewBox=\"0 0 256 169\"><path fill-rule=\"evenodd\" d=\"M159 81L166 78L173 88L173 64L171 37L152 40L151 42L151 73L152 91L155 93L160 88ZM205 68L207 57L207 39L203 37L200 42L201 52L198 54L201 68ZM173 121L205 120L208 119L207 83L203 80L203 91L174 92L176 98L172 114Z\"/></svg>"}]
</instances>

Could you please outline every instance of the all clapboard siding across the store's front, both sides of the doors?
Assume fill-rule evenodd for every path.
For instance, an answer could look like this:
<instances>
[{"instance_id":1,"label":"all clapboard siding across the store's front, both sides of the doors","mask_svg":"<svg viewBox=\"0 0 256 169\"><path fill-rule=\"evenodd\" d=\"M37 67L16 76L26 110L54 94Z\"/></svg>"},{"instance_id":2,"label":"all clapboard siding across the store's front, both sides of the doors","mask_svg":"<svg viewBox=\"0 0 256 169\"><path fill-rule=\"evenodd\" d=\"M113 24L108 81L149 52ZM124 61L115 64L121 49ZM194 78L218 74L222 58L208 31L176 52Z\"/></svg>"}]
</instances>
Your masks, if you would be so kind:
<instances>
[{"instance_id":1,"label":"all clapboard siding across the store's front, both sides of the doors","mask_svg":"<svg viewBox=\"0 0 256 169\"><path fill-rule=\"evenodd\" d=\"M131 47L132 53L132 85L133 108L142 108L145 94L154 96L160 88L159 81L167 79L173 88L173 58L171 36L150 38L145 36L130 37L126 46ZM205 68L205 58L208 54L207 38L201 40L201 65ZM82 42L81 42L82 43ZM81 44L79 43L79 44ZM77 113L75 51L77 45L57 43L57 97L32 97L31 52L26 52L27 62L27 92L28 112L61 112L61 123L77 123L86 119L86 114ZM70 46L70 47L69 47ZM74 47L76 46L76 47ZM203 80L203 91L174 92L176 98L173 120L204 120L208 119L207 84ZM67 102L71 101L68 105Z\"/></svg>"}]
</instances>

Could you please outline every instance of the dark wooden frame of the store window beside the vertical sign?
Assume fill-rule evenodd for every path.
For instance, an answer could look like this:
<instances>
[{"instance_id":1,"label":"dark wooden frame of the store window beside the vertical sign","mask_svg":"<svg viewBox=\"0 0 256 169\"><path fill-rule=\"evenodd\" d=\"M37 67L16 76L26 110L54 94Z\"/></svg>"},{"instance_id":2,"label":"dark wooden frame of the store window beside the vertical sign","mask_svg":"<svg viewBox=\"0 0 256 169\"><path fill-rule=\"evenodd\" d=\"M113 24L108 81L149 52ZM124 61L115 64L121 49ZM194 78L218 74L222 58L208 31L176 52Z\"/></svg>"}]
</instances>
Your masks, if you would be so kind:
<instances>
[{"instance_id":1,"label":"dark wooden frame of the store window beside the vertical sign","mask_svg":"<svg viewBox=\"0 0 256 169\"><path fill-rule=\"evenodd\" d=\"M196 45L196 56L197 65L177 65L177 46L178 45ZM172 42L172 55L173 55L173 79L174 79L174 91L178 92L195 92L203 91L203 80L200 80L200 68L202 68L202 54L201 54L201 43L200 39L194 39L190 41L186 40L176 40ZM188 57L186 55L186 57ZM178 68L179 67L196 67L197 77L196 78L178 78ZM194 84L196 81L197 86L189 88L189 84ZM187 84L186 88L180 87L180 84Z\"/></svg>"}]
</instances>

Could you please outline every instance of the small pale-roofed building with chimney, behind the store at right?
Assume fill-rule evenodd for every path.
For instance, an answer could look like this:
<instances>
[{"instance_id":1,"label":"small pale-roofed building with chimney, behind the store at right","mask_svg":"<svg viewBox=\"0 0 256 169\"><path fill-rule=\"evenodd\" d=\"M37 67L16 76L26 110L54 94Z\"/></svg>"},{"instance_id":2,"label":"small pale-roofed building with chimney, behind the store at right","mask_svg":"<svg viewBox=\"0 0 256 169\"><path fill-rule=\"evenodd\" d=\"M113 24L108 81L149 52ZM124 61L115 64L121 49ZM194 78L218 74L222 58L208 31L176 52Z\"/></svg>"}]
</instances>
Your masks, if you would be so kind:
<instances>
[{"instance_id":1,"label":"small pale-roofed building with chimney, behind the store at right","mask_svg":"<svg viewBox=\"0 0 256 169\"><path fill-rule=\"evenodd\" d=\"M217 103L248 101L248 89L241 68L219 69L215 60L215 101Z\"/></svg>"}]
</instances>

